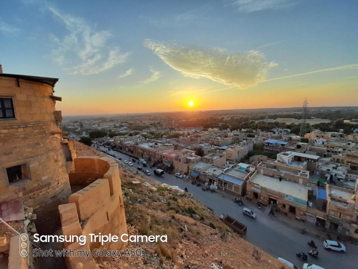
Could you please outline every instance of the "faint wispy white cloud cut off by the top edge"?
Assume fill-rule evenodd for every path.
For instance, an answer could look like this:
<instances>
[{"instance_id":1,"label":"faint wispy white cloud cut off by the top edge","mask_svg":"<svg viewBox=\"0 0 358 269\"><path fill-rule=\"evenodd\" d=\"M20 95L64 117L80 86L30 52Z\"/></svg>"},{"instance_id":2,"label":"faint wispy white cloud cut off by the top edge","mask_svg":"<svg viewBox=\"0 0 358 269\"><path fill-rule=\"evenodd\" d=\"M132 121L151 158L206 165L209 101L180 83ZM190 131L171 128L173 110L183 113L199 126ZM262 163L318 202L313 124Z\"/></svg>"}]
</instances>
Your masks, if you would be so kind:
<instances>
[{"instance_id":1,"label":"faint wispy white cloud cut off by the top edge","mask_svg":"<svg viewBox=\"0 0 358 269\"><path fill-rule=\"evenodd\" d=\"M296 4L295 0L224 0L226 5L238 11L254 12L265 9L281 9Z\"/></svg>"}]
</instances>

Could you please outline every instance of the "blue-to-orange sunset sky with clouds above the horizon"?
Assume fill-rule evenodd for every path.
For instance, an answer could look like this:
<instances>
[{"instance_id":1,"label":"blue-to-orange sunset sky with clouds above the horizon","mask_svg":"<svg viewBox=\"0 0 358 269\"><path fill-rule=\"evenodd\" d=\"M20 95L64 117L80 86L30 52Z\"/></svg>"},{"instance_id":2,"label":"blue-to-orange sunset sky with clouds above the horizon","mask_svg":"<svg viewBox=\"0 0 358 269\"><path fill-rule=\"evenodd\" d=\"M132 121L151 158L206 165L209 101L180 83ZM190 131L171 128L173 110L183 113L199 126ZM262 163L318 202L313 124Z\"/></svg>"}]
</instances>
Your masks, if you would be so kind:
<instances>
[{"instance_id":1,"label":"blue-to-orange sunset sky with clouds above the horizon","mask_svg":"<svg viewBox=\"0 0 358 269\"><path fill-rule=\"evenodd\" d=\"M63 115L357 106L357 14L355 0L13 0L0 61L58 78Z\"/></svg>"}]
</instances>

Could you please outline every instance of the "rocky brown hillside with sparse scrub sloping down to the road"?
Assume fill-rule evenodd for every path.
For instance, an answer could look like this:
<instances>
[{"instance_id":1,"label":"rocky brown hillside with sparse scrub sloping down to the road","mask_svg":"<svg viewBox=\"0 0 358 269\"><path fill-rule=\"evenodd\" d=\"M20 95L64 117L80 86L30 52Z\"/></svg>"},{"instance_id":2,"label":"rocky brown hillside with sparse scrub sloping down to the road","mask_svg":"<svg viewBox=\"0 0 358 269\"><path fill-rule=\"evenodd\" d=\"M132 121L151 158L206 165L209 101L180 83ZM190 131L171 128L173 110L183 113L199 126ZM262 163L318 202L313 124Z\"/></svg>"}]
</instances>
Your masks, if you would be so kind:
<instances>
[{"instance_id":1,"label":"rocky brown hillside with sparse scrub sloping down to the road","mask_svg":"<svg viewBox=\"0 0 358 269\"><path fill-rule=\"evenodd\" d=\"M104 156L74 142L77 156ZM168 235L167 243L129 243L145 257L98 261L100 268L284 268L284 264L258 250L228 228L208 207L190 194L178 194L161 185L120 170L130 235ZM259 257L259 258L258 258Z\"/></svg>"}]
</instances>

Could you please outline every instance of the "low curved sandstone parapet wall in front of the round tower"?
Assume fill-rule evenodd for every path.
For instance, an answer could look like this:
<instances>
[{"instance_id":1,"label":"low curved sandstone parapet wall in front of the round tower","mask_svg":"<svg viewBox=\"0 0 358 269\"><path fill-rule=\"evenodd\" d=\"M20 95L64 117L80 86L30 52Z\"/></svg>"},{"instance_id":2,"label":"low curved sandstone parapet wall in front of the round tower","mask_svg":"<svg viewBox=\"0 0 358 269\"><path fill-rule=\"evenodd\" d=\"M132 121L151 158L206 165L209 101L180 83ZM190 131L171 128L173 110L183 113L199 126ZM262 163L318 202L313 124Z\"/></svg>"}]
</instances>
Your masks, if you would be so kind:
<instances>
[{"instance_id":1,"label":"low curved sandstone parapet wall in front of the round tower","mask_svg":"<svg viewBox=\"0 0 358 269\"><path fill-rule=\"evenodd\" d=\"M83 177L84 173L96 175L97 179L87 187L71 194L68 198L69 204L59 206L63 234L87 236L85 246L74 243L77 245L66 245L66 247L72 249L84 247L91 251L95 248L99 250L104 248L109 250L124 249L126 243L120 240L118 242L107 242L102 246L99 242L90 242L88 236L89 233L96 235L111 233L120 237L122 233L127 233L118 164L107 157L77 157L74 159L74 167L75 170L69 174L70 181L76 179L78 184L80 178L86 180ZM87 172L87 170L89 171ZM87 263L91 262L90 260L81 261L78 257L69 257L67 261L69 268L75 268L79 262L86 263L87 266ZM83 268L87 268L86 266ZM92 262L88 264L88 268L92 268L91 266Z\"/></svg>"}]
</instances>

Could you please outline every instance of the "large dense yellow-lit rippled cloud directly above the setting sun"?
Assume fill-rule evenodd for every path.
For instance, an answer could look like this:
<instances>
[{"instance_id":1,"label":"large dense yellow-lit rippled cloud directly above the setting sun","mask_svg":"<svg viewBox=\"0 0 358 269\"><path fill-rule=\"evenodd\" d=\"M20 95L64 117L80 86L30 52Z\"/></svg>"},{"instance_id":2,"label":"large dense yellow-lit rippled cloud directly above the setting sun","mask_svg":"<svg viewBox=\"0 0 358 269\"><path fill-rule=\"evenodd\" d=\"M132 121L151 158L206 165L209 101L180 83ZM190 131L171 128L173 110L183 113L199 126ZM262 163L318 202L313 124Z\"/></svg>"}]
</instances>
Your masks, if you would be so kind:
<instances>
[{"instance_id":1,"label":"large dense yellow-lit rippled cloud directly above the setting sun","mask_svg":"<svg viewBox=\"0 0 358 269\"><path fill-rule=\"evenodd\" d=\"M265 56L260 51L229 53L225 49L205 50L151 39L146 39L144 46L184 76L195 79L205 77L240 89L265 81L267 71L277 65L265 62Z\"/></svg>"}]
</instances>

